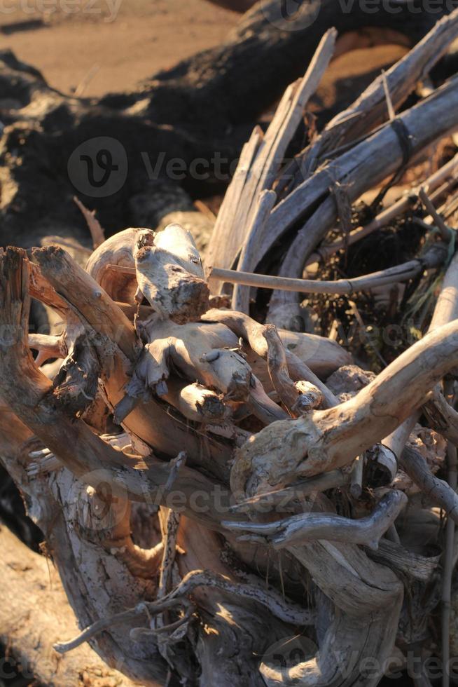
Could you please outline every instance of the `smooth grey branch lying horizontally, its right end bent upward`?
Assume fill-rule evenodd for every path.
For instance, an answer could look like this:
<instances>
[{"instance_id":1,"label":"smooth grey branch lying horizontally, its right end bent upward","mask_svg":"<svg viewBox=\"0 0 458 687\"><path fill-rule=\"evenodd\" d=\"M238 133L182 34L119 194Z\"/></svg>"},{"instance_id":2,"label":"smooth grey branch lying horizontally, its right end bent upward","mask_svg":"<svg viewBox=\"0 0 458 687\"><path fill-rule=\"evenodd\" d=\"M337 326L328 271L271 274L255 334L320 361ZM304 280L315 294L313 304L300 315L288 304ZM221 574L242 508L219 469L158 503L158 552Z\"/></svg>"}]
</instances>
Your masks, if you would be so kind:
<instances>
[{"instance_id":1,"label":"smooth grey branch lying horizontally, its right end bent upward","mask_svg":"<svg viewBox=\"0 0 458 687\"><path fill-rule=\"evenodd\" d=\"M401 491L385 494L367 517L351 519L332 513L306 512L268 523L225 522L230 531L251 541L264 540L275 549L310 540L364 544L377 549L380 538L408 502Z\"/></svg>"}]
</instances>

